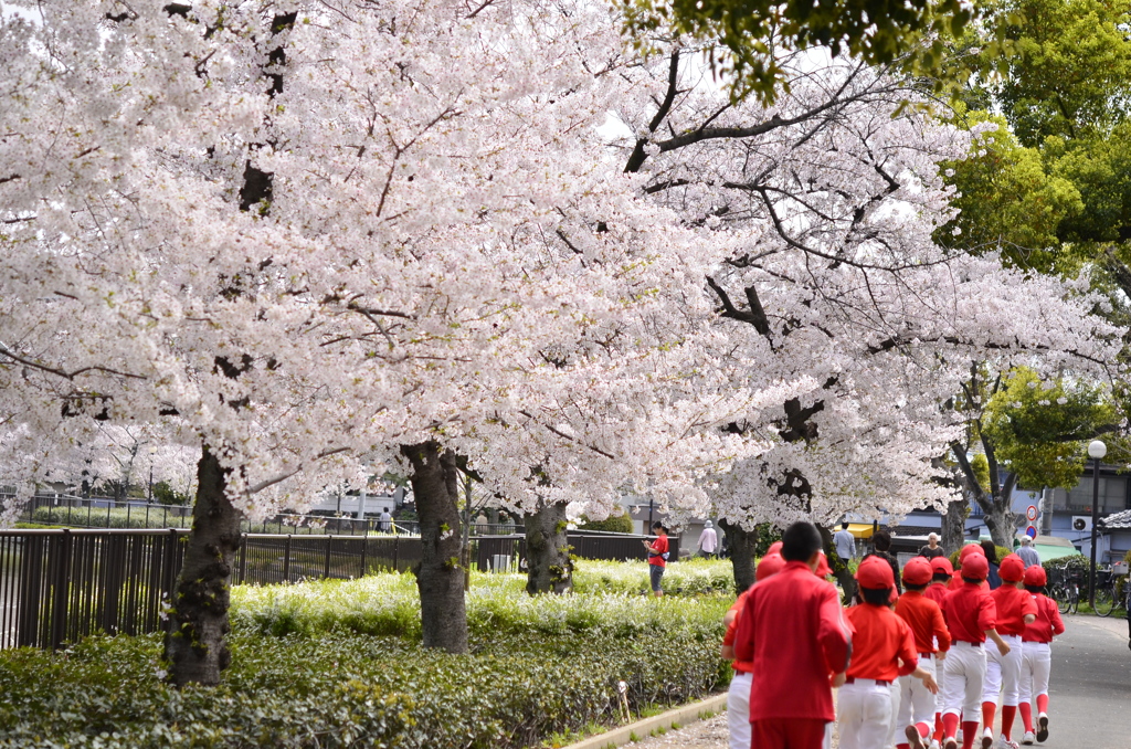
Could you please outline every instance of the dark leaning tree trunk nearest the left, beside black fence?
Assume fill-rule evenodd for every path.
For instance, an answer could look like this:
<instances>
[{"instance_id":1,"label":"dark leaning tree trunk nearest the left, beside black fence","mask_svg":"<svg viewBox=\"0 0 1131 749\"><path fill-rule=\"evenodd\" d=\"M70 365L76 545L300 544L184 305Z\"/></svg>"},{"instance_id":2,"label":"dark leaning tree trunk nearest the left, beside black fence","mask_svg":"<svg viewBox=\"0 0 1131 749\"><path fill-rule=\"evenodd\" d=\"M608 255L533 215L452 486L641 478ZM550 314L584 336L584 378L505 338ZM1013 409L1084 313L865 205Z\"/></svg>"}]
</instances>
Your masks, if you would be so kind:
<instances>
[{"instance_id":1,"label":"dark leaning tree trunk nearest the left, beside black fence","mask_svg":"<svg viewBox=\"0 0 1131 749\"><path fill-rule=\"evenodd\" d=\"M184 563L176 578L165 634L174 685L217 685L227 668L227 608L232 563L240 548L241 513L224 494L227 472L204 446L197 463L197 501Z\"/></svg>"}]
</instances>

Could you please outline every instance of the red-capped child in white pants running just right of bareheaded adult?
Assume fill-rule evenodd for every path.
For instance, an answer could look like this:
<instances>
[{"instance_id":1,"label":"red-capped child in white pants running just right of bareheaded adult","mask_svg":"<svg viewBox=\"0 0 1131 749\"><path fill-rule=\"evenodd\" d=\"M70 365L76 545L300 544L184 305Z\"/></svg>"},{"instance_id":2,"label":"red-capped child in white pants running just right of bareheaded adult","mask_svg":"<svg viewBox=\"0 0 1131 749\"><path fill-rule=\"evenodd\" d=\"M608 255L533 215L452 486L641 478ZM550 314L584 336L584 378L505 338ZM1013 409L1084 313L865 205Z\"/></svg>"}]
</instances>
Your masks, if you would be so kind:
<instances>
[{"instance_id":1,"label":"red-capped child in white pants running just right of bareheaded adult","mask_svg":"<svg viewBox=\"0 0 1131 749\"><path fill-rule=\"evenodd\" d=\"M853 658L837 697L840 749L886 749L895 717L892 681L913 675L930 692L939 687L918 663L912 628L888 608L896 580L887 560L867 557L861 561L856 584L863 603L847 611L854 630Z\"/></svg>"}]
</instances>

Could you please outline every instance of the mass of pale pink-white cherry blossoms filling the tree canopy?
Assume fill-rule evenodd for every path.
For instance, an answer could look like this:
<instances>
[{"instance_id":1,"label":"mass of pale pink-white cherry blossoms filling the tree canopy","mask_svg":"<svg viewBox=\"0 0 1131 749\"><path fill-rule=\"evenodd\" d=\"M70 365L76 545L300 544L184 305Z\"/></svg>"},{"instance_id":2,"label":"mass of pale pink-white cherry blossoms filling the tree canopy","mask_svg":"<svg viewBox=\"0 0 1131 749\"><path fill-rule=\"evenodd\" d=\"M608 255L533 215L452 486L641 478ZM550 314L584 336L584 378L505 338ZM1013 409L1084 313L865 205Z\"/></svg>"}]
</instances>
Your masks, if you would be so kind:
<instances>
[{"instance_id":1,"label":"mass of pale pink-white cherry blossoms filling the tree canopy","mask_svg":"<svg viewBox=\"0 0 1131 749\"><path fill-rule=\"evenodd\" d=\"M0 19L12 480L144 424L208 445L252 517L428 440L515 508L905 511L946 496L972 356L1113 360L1078 290L932 242L967 141L866 69L798 63L765 111L587 0L26 6ZM748 287L761 330L719 315Z\"/></svg>"}]
</instances>

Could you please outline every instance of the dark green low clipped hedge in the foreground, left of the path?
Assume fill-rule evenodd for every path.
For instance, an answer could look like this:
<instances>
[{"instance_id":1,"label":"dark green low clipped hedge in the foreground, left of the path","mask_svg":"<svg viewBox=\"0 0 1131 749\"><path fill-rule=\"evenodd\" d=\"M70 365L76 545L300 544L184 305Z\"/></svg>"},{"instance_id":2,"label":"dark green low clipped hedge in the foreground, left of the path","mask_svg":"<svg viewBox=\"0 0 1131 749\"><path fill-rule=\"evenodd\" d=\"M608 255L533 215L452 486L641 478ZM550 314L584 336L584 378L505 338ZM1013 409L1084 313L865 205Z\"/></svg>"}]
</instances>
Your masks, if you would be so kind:
<instances>
[{"instance_id":1,"label":"dark green low clipped hedge in the foreground, left of the path","mask_svg":"<svg viewBox=\"0 0 1131 749\"><path fill-rule=\"evenodd\" d=\"M0 747L517 749L702 697L725 679L716 637L477 636L450 656L402 638L231 638L222 686L175 690L159 638L94 637L0 655Z\"/></svg>"}]
</instances>

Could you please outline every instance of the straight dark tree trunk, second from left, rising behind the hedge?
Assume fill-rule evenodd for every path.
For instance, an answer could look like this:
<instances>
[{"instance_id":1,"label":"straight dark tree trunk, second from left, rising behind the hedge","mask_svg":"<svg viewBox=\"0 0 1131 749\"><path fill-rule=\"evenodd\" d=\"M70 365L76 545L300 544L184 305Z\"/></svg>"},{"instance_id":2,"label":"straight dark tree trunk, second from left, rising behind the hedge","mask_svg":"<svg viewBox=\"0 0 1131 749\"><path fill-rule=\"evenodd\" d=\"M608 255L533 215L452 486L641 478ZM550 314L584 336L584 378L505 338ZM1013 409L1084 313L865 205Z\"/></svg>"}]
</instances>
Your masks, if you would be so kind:
<instances>
[{"instance_id":1,"label":"straight dark tree trunk, second from left, rising behind the hedge","mask_svg":"<svg viewBox=\"0 0 1131 749\"><path fill-rule=\"evenodd\" d=\"M437 442L402 445L413 468L409 482L421 526L421 594L424 647L467 652L467 604L459 563L459 476L456 456Z\"/></svg>"}]
</instances>

